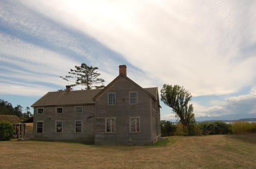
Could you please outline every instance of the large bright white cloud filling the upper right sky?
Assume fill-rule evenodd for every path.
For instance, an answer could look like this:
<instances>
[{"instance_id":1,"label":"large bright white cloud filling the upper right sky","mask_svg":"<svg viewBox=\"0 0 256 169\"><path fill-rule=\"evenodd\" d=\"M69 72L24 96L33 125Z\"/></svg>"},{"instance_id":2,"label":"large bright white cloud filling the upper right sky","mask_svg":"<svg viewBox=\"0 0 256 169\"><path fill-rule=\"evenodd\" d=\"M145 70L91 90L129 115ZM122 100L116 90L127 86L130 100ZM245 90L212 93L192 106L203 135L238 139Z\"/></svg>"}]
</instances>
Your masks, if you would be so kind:
<instances>
[{"instance_id":1,"label":"large bright white cloud filling the upper right sky","mask_svg":"<svg viewBox=\"0 0 256 169\"><path fill-rule=\"evenodd\" d=\"M248 19L255 18L255 2L23 3L90 34L159 83L185 86L194 96L228 94L255 83L256 56L241 53L256 43L256 23Z\"/></svg>"}]
</instances>

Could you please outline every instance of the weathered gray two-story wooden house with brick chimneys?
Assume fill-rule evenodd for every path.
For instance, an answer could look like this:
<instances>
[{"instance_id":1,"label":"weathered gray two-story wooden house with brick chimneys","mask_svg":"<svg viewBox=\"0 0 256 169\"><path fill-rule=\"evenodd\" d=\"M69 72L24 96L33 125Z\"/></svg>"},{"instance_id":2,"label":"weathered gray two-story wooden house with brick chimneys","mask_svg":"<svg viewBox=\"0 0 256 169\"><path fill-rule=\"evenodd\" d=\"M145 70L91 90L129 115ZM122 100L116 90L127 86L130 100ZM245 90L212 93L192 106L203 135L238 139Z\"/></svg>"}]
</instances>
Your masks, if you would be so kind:
<instances>
[{"instance_id":1,"label":"weathered gray two-story wooden house with brick chimneys","mask_svg":"<svg viewBox=\"0 0 256 169\"><path fill-rule=\"evenodd\" d=\"M104 89L48 92L36 101L33 137L89 144L150 145L161 136L157 87L142 88L119 66Z\"/></svg>"}]
</instances>

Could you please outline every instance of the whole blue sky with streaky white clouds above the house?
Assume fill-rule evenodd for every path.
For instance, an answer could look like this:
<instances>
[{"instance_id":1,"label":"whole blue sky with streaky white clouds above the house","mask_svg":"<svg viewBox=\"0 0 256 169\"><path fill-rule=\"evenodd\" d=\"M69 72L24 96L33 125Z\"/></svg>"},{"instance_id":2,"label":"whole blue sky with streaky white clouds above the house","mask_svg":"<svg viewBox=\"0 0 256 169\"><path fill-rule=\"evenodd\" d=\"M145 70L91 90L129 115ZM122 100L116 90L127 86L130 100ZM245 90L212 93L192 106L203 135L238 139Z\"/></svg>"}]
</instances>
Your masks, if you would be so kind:
<instances>
[{"instance_id":1,"label":"whole blue sky with streaky white clouds above the house","mask_svg":"<svg viewBox=\"0 0 256 169\"><path fill-rule=\"evenodd\" d=\"M75 65L99 67L107 85L125 64L144 88L184 86L196 117L256 117L255 9L253 0L0 0L0 99L25 109L69 85L59 76ZM176 119L161 106L162 120Z\"/></svg>"}]
</instances>

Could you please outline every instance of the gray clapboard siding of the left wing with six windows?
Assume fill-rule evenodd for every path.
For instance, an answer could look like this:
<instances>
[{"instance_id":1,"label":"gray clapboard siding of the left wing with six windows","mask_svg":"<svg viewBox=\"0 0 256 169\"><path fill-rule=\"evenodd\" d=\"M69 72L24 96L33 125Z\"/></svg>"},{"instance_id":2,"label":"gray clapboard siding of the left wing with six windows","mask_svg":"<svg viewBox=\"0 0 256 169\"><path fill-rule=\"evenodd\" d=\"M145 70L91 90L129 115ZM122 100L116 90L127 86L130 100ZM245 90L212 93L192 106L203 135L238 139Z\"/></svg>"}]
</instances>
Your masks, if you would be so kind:
<instances>
[{"instance_id":1,"label":"gray clapboard siding of the left wing with six windows","mask_svg":"<svg viewBox=\"0 0 256 169\"><path fill-rule=\"evenodd\" d=\"M76 105L77 106L77 105ZM55 108L63 107L62 114L56 114ZM33 137L38 140L62 140L76 141L82 143L94 143L94 117L95 106L84 105L82 113L75 113L75 106L47 106L44 114L37 113L34 108L34 129ZM89 118L88 117L92 117ZM82 132L75 133L75 121L82 121ZM43 121L43 133L37 133L37 122ZM62 133L55 132L55 121L62 121Z\"/></svg>"}]
</instances>

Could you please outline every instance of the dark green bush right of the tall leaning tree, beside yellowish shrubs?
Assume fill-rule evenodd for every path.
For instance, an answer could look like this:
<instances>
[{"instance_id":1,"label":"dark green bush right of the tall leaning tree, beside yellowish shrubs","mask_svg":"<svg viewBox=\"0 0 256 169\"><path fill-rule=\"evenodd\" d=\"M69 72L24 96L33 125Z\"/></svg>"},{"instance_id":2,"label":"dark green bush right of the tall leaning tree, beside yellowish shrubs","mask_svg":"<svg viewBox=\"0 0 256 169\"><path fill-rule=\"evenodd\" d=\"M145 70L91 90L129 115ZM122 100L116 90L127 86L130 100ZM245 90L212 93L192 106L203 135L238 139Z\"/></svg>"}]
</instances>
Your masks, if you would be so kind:
<instances>
[{"instance_id":1,"label":"dark green bush right of the tall leaning tree, beside yellowish shrubs","mask_svg":"<svg viewBox=\"0 0 256 169\"><path fill-rule=\"evenodd\" d=\"M199 123L198 126L202 130L203 135L221 135L232 133L232 125L221 121Z\"/></svg>"}]
</instances>

